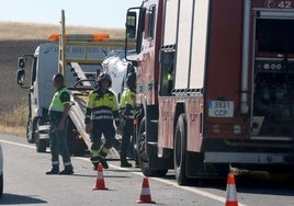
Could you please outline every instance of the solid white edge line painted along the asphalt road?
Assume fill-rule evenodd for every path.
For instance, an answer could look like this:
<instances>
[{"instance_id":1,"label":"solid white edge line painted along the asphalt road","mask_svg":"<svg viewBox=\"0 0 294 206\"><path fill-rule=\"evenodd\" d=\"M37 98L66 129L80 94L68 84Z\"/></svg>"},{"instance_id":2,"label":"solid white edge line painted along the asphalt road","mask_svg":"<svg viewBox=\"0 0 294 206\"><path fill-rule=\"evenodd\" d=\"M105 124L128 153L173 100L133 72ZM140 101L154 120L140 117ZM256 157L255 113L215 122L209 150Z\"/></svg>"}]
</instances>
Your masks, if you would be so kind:
<instances>
[{"instance_id":1,"label":"solid white edge line painted along the asphalt road","mask_svg":"<svg viewBox=\"0 0 294 206\"><path fill-rule=\"evenodd\" d=\"M25 147L25 148L29 148L29 149L35 149L35 147L33 147L33 146L27 146L27 145L24 145L24 144L16 144L16 142L13 142L13 141L7 141L7 140L2 140L2 139L0 139L0 142L4 142L4 144L9 144L9 145L14 145L14 146L20 146L20 147ZM79 160L82 160L82 161L90 162L90 159L89 158L75 157L75 159L79 159ZM113 168L115 170L124 170L124 171L128 171L129 170L129 169L121 168L121 167L117 167L117 165L114 165L114 164L109 164L109 165L110 165L110 168ZM136 175L144 176L144 174L140 173L140 172L132 172L132 173L134 173ZM211 194L211 193L207 193L205 191L201 191L199 188L189 187L189 186L180 186L180 185L178 185L178 183L172 182L172 181L169 181L169 180L165 180L165 179L159 179L159 178L149 178L149 179L155 180L157 182L161 182L161 183L165 183L165 184L172 185L172 186L174 186L177 188L181 188L181 190L184 190L184 191L188 191L188 192L191 192L191 193L194 193L194 194L197 194L197 195L201 195L201 196L204 196L204 197L207 197L207 198L217 201L217 202L220 202L223 204L226 203L226 198L224 198L222 196L217 196L217 195ZM239 206L246 206L246 205L240 204L240 203L238 203L238 205Z\"/></svg>"}]
</instances>

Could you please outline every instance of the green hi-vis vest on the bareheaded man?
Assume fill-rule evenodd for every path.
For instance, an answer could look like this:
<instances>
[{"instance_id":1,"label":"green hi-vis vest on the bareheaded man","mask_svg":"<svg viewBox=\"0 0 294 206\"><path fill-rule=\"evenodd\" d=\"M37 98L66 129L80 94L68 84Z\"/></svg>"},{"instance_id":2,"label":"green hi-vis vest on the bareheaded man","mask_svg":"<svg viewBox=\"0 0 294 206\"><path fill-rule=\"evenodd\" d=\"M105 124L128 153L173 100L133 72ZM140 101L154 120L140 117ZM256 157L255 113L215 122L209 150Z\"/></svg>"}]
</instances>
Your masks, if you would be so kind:
<instances>
[{"instance_id":1,"label":"green hi-vis vest on the bareheaded man","mask_svg":"<svg viewBox=\"0 0 294 206\"><path fill-rule=\"evenodd\" d=\"M49 106L49 112L64 112L65 104L71 103L71 101L70 91L66 87L63 87L55 92Z\"/></svg>"}]
</instances>

